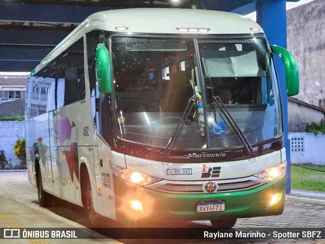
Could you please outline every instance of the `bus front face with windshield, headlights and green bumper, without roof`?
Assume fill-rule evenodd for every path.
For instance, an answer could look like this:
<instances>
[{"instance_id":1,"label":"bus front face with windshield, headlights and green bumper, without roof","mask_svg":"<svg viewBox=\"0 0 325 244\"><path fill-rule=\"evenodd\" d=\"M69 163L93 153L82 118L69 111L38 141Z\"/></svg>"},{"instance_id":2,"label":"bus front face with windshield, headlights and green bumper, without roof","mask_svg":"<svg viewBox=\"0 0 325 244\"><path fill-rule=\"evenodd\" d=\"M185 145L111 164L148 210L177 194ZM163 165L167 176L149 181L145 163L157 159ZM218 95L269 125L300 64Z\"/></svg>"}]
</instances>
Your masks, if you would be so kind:
<instances>
[{"instance_id":1,"label":"bus front face with windshield, headlights and green bumper, without roof","mask_svg":"<svg viewBox=\"0 0 325 244\"><path fill-rule=\"evenodd\" d=\"M117 219L232 227L282 213L281 100L263 34L113 34L108 49L112 134L125 155L110 161Z\"/></svg>"}]
</instances>

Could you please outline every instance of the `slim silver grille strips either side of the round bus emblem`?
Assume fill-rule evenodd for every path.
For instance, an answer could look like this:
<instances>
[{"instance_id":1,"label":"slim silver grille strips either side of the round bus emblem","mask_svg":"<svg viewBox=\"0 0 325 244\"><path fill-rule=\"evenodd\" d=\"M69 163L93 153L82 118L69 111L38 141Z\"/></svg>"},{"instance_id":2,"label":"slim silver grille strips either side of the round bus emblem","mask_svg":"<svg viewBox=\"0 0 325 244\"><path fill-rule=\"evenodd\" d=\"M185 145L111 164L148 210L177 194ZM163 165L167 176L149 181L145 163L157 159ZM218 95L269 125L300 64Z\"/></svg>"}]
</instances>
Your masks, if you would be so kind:
<instances>
[{"instance_id":1,"label":"slim silver grille strips either side of the round bus emblem","mask_svg":"<svg viewBox=\"0 0 325 244\"><path fill-rule=\"evenodd\" d=\"M262 182L257 181L242 181L242 182L232 182L232 183L218 183L218 190L215 193L219 192L230 192L230 191L238 191L238 190L248 190L251 188L255 188L263 185ZM165 192L172 193L206 193L203 190L203 184L164 184L156 186L155 189Z\"/></svg>"}]
</instances>

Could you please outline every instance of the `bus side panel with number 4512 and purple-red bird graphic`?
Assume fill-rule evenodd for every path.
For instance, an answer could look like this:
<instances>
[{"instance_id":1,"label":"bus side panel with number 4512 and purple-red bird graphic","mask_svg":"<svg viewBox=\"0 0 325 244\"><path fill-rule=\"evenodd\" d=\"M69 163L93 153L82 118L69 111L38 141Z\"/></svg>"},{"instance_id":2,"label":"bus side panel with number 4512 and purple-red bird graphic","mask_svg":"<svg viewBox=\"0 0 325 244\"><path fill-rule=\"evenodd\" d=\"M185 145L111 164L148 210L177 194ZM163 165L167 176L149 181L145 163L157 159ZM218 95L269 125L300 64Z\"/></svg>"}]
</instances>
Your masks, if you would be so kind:
<instances>
[{"instance_id":1,"label":"bus side panel with number 4512 and purple-red bird graphic","mask_svg":"<svg viewBox=\"0 0 325 244\"><path fill-rule=\"evenodd\" d=\"M80 163L86 163L91 185L95 187L92 152L95 140L89 100L76 101L57 109L56 120L62 198L82 205ZM94 205L94 209L97 206Z\"/></svg>"}]
</instances>

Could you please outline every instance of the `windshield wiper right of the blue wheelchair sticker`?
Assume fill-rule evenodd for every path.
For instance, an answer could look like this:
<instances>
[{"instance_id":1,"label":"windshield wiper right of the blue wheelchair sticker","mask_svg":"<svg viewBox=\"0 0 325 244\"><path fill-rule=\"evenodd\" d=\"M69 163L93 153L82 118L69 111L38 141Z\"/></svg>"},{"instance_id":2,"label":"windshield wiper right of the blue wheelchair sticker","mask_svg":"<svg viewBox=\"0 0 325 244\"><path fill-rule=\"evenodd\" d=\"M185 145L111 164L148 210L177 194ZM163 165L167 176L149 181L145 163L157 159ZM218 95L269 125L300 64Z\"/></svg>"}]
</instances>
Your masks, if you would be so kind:
<instances>
[{"instance_id":1,"label":"windshield wiper right of the blue wheelchair sticker","mask_svg":"<svg viewBox=\"0 0 325 244\"><path fill-rule=\"evenodd\" d=\"M256 156L253 148L251 147L250 143L248 142L248 140L247 140L246 136L244 135L243 131L241 131L241 129L238 127L236 121L234 120L233 116L231 116L228 109L224 106L224 104L221 101L220 97L219 96L212 96L212 100L213 100L213 107L215 107L214 104L216 103L218 105L218 107L220 108L221 112L226 117L226 119L228 119L228 121L230 122L232 127L235 129L236 133L239 136L240 141L242 142L243 146L245 147L245 150L246 150L245 153L247 155ZM215 108L214 108L214 113L215 113Z\"/></svg>"}]
</instances>

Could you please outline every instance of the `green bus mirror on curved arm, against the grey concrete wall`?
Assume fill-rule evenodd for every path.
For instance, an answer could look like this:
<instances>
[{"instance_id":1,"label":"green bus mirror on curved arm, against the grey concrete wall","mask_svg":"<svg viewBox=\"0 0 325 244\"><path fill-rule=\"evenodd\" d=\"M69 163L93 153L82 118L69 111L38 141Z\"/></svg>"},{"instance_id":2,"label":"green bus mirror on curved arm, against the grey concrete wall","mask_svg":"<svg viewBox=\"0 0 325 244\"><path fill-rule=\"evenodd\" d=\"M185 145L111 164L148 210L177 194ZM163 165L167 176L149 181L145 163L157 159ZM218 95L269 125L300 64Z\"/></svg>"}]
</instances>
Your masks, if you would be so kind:
<instances>
[{"instance_id":1,"label":"green bus mirror on curved arm, against the grey concrete wall","mask_svg":"<svg viewBox=\"0 0 325 244\"><path fill-rule=\"evenodd\" d=\"M271 49L283 61L287 96L297 95L299 93L299 71L296 58L284 48L271 45Z\"/></svg>"}]
</instances>

